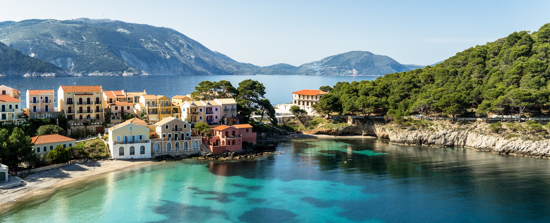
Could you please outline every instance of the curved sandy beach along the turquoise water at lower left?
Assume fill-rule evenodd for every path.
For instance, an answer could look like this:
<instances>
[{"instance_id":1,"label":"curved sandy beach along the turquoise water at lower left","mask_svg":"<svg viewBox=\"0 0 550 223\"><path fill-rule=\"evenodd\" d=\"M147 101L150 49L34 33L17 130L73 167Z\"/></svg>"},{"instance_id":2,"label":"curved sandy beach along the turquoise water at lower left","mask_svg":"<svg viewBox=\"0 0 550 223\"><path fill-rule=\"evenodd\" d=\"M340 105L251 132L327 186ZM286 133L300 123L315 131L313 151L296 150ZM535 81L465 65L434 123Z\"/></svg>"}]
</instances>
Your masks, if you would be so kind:
<instances>
[{"instance_id":1,"label":"curved sandy beach along the turquoise water at lower left","mask_svg":"<svg viewBox=\"0 0 550 223\"><path fill-rule=\"evenodd\" d=\"M90 163L74 163L61 168L36 172L25 177L25 186L0 189L0 210L20 200L53 192L56 188L69 185L92 176L109 172L128 170L131 166L156 163L151 160L101 160Z\"/></svg>"}]
</instances>

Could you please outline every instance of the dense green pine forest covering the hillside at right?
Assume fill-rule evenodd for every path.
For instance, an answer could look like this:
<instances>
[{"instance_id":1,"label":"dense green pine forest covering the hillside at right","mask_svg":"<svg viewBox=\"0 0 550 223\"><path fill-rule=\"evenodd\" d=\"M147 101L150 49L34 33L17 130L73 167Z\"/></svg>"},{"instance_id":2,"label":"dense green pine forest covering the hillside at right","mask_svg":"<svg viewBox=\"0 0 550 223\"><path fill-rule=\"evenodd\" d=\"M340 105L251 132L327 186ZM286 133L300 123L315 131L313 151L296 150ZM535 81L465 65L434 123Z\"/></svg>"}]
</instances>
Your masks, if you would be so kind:
<instances>
[{"instance_id":1,"label":"dense green pine forest covering the hillside at right","mask_svg":"<svg viewBox=\"0 0 550 223\"><path fill-rule=\"evenodd\" d=\"M550 24L456 53L443 63L373 81L323 86L324 114L547 116Z\"/></svg>"}]
</instances>

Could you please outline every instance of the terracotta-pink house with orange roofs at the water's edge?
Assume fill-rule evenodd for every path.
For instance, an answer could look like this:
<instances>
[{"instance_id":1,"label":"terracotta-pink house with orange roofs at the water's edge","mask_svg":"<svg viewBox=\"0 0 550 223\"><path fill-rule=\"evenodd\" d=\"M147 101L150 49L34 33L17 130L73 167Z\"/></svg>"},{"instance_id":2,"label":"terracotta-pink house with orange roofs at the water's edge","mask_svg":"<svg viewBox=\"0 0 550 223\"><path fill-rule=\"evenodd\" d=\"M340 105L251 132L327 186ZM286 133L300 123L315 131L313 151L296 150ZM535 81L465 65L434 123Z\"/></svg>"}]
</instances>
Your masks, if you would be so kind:
<instances>
[{"instance_id":1,"label":"terracotta-pink house with orange roofs at the water's edge","mask_svg":"<svg viewBox=\"0 0 550 223\"><path fill-rule=\"evenodd\" d=\"M202 137L202 141L212 153L224 153L226 150L234 152L243 148L242 142L256 142L256 132L252 132L252 126L249 124L219 125L211 130L213 136Z\"/></svg>"}]
</instances>

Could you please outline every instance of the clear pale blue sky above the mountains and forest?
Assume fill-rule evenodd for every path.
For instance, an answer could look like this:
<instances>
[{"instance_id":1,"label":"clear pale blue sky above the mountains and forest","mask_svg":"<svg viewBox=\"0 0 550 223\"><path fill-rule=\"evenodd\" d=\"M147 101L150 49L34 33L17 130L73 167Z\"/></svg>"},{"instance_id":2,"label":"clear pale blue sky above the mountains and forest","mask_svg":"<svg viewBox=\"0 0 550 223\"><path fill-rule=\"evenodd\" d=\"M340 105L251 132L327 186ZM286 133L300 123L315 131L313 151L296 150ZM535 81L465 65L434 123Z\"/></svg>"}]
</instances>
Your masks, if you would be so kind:
<instances>
[{"instance_id":1,"label":"clear pale blue sky above the mountains and forest","mask_svg":"<svg viewBox=\"0 0 550 223\"><path fill-rule=\"evenodd\" d=\"M550 23L550 1L3 1L0 21L105 18L171 27L244 63L349 51L432 64Z\"/></svg>"}]
</instances>

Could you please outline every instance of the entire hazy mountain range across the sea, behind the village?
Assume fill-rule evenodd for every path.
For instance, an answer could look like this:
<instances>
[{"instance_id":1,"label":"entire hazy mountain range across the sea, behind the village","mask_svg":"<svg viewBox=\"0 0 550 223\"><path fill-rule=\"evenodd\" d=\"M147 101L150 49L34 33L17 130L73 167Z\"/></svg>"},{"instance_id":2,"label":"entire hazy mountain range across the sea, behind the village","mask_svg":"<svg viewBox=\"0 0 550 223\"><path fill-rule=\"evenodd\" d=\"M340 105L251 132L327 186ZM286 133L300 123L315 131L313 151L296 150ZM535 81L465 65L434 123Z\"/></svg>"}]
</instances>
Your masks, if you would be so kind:
<instances>
[{"instance_id":1,"label":"entire hazy mountain range across the sea, behind the village","mask_svg":"<svg viewBox=\"0 0 550 223\"><path fill-rule=\"evenodd\" d=\"M0 68L12 64L11 71L0 69L0 75L7 76L384 75L423 68L363 51L300 66L256 66L211 51L173 29L109 19L4 21L0 41L35 59L2 59ZM46 67L44 61L55 66ZM14 66L21 63L26 65Z\"/></svg>"}]
</instances>

